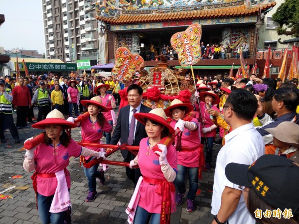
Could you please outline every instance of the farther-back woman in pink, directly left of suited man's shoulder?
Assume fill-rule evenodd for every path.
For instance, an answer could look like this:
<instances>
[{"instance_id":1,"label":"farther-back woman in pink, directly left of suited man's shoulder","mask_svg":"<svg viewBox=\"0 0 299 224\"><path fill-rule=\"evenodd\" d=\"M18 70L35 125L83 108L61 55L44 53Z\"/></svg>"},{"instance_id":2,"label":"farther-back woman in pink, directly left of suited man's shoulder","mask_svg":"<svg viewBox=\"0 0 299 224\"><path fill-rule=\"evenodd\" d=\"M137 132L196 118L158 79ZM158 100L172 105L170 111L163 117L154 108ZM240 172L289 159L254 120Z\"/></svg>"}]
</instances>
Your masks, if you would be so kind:
<instances>
[{"instance_id":1,"label":"farther-back woman in pink, directly left of suited man's shoulder","mask_svg":"<svg viewBox=\"0 0 299 224\"><path fill-rule=\"evenodd\" d=\"M115 99L111 94L107 94L107 90L110 88L110 85L99 83L98 86L95 88L94 93L98 94L98 97L102 100L103 105L109 110L108 112L103 112L104 117L108 122L113 125L112 116L115 116L115 112L113 109L116 108ZM114 113L114 114L112 114ZM110 144L111 140L111 130L103 133L104 137L106 138L106 144Z\"/></svg>"}]
</instances>

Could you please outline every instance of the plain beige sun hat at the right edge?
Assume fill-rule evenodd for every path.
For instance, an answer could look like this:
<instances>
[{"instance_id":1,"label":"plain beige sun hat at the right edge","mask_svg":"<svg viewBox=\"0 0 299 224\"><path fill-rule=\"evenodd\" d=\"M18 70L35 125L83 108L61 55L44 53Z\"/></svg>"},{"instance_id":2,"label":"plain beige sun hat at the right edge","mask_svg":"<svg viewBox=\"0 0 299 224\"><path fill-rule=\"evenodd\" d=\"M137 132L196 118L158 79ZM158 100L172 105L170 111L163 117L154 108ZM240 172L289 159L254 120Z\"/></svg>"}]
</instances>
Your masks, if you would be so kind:
<instances>
[{"instance_id":1,"label":"plain beige sun hat at the right edge","mask_svg":"<svg viewBox=\"0 0 299 224\"><path fill-rule=\"evenodd\" d=\"M299 146L299 125L291 121L281 122L273 128L266 128L273 137L290 145Z\"/></svg>"}]
</instances>

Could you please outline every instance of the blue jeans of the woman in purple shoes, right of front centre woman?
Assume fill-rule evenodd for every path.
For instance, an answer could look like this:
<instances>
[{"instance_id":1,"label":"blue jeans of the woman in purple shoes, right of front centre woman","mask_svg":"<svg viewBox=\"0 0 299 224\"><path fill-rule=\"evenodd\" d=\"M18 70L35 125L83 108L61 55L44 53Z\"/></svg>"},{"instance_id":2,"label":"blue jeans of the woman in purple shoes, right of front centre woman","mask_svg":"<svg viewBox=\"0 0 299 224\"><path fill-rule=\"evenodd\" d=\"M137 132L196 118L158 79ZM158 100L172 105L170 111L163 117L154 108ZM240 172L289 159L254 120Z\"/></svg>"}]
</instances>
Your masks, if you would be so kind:
<instances>
[{"instance_id":1,"label":"blue jeans of the woman in purple shoes, right of front centre woman","mask_svg":"<svg viewBox=\"0 0 299 224\"><path fill-rule=\"evenodd\" d=\"M189 173L189 192L187 194L187 199L194 200L198 188L198 167L191 168L182 165L177 165L177 174L174 180L174 184L179 193L184 194L186 192L185 176L187 170Z\"/></svg>"}]
</instances>

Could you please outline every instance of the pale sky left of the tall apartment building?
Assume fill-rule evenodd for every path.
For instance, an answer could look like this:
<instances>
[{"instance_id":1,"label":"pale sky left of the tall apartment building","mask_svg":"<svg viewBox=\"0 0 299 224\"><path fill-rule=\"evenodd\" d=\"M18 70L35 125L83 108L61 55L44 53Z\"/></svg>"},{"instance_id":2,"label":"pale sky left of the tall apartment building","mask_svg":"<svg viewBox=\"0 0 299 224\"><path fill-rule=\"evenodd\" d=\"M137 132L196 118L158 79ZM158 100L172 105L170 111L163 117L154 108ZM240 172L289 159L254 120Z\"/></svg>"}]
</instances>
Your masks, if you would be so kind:
<instances>
[{"instance_id":1,"label":"pale sky left of the tall apartment building","mask_svg":"<svg viewBox=\"0 0 299 224\"><path fill-rule=\"evenodd\" d=\"M5 50L23 48L45 52L41 0L0 0L0 47Z\"/></svg>"}]
</instances>

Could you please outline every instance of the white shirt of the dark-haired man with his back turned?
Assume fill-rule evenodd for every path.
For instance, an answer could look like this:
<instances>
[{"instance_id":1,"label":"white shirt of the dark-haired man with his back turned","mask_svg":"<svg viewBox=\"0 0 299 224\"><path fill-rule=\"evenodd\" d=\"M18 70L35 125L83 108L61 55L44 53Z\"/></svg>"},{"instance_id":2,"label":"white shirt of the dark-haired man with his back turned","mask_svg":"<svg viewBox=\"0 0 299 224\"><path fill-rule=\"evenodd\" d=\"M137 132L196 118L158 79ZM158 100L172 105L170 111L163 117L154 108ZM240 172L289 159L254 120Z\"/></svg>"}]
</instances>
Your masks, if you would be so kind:
<instances>
[{"instance_id":1,"label":"white shirt of the dark-haired man with his back turned","mask_svg":"<svg viewBox=\"0 0 299 224\"><path fill-rule=\"evenodd\" d=\"M225 167L229 163L251 165L265 154L265 143L261 134L252 123L236 128L225 135L225 145L220 149L214 176L212 214L217 215L221 205L221 195L225 186L239 189L225 176ZM229 224L255 224L255 220L247 210L243 195L234 213L228 218Z\"/></svg>"}]
</instances>

